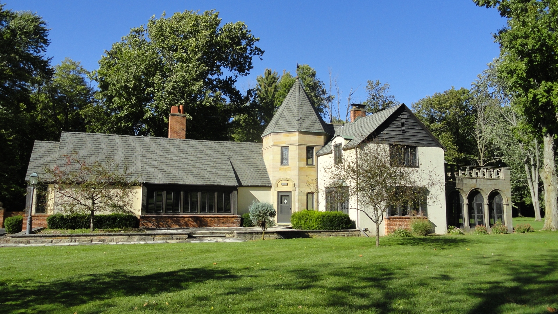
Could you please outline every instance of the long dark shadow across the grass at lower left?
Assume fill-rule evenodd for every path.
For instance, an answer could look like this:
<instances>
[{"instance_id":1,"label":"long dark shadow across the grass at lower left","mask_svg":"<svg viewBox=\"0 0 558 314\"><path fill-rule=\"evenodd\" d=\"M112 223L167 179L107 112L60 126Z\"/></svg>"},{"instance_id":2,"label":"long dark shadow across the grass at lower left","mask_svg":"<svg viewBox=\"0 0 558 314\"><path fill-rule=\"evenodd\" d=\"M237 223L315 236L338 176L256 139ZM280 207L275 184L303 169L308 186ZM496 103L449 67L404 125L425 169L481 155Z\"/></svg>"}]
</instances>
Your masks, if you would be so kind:
<instances>
[{"instance_id":1,"label":"long dark shadow across the grass at lower left","mask_svg":"<svg viewBox=\"0 0 558 314\"><path fill-rule=\"evenodd\" d=\"M137 274L117 270L73 276L52 282L0 282L0 313L18 312L45 305L83 305L114 297L140 296L187 289L209 280L231 280L237 276L225 269L189 268L172 272ZM45 311L40 311L45 312ZM50 312L50 311L46 311Z\"/></svg>"}]
</instances>

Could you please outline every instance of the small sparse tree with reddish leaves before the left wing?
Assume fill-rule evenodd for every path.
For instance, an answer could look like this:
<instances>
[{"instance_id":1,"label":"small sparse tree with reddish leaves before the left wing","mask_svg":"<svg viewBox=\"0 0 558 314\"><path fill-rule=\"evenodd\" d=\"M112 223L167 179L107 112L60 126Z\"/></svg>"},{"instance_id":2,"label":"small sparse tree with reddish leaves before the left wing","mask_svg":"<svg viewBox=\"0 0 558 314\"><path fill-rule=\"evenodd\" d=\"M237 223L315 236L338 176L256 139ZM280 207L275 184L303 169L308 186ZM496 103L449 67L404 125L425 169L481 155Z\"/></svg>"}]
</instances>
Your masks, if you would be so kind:
<instances>
[{"instance_id":1,"label":"small sparse tree with reddish leaves before the left wing","mask_svg":"<svg viewBox=\"0 0 558 314\"><path fill-rule=\"evenodd\" d=\"M89 164L79 160L76 152L63 156L64 166L44 168L54 183L53 197L62 211L88 212L91 231L95 230L95 211L132 213L133 187L140 183L130 178L127 165L121 167L110 157Z\"/></svg>"}]
</instances>

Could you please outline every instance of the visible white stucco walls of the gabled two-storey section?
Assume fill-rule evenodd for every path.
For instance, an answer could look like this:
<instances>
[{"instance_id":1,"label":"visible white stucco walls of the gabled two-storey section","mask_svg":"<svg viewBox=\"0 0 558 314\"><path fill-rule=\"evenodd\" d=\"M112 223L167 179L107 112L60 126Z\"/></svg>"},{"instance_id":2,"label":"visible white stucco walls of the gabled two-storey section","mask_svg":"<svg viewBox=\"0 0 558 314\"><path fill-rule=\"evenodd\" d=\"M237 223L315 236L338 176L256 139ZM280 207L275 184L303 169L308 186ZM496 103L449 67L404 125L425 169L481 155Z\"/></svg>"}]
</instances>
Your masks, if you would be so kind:
<instances>
[{"instance_id":1,"label":"visible white stucco walls of the gabled two-storey section","mask_svg":"<svg viewBox=\"0 0 558 314\"><path fill-rule=\"evenodd\" d=\"M332 141L332 145L336 143L345 144L347 140L336 137ZM385 146L386 153L388 152L387 144L368 144L368 145L382 145ZM359 154L363 151L359 149ZM355 149L343 151L343 160L354 160ZM319 186L319 210L326 210L325 188L331 184L334 178L331 178L328 173L328 168L333 166L333 153L326 154L318 157L318 186ZM444 184L444 150L439 147L419 147L419 168L417 169L417 181L422 185L428 183L435 183L429 188L429 195L427 196L428 218L435 225L435 232L439 234L446 233L446 197L445 197L445 184ZM430 185L430 184L429 184ZM349 208L357 207L356 197L352 196L349 199ZM359 205L359 209L365 210L371 214L371 210ZM357 213L358 212L358 213ZM375 234L376 225L368 218L368 216L356 209L349 209L349 216L353 219L360 229L368 228L369 234ZM379 226L379 234L385 235L384 224Z\"/></svg>"}]
</instances>

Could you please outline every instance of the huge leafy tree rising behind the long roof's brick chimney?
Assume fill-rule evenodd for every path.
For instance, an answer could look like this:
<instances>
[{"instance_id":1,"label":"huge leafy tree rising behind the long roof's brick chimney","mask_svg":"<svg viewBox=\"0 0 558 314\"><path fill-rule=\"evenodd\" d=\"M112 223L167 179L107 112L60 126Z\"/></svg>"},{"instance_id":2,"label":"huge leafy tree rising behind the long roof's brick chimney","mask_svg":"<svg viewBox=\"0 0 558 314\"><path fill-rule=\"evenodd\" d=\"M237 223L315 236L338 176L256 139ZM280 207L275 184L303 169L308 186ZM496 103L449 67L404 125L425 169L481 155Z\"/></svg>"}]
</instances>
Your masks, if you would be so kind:
<instances>
[{"instance_id":1,"label":"huge leafy tree rising behind the long roof's brick chimney","mask_svg":"<svg viewBox=\"0 0 558 314\"><path fill-rule=\"evenodd\" d=\"M234 84L263 55L258 40L243 22L222 25L215 11L153 16L99 61L101 105L89 131L165 137L171 106L184 104L187 137L230 139L230 118L247 102Z\"/></svg>"}]
</instances>

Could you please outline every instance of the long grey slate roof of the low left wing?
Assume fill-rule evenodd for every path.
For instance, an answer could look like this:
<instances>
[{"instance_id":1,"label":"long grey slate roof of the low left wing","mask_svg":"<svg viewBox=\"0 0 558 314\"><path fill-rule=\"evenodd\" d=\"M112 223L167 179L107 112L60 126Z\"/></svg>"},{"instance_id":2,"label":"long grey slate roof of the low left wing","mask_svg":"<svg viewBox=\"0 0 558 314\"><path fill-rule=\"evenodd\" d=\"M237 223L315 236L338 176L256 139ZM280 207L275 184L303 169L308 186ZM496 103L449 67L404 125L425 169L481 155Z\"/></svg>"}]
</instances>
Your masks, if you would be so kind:
<instances>
[{"instance_id":1,"label":"long grey slate roof of the low left wing","mask_svg":"<svg viewBox=\"0 0 558 314\"><path fill-rule=\"evenodd\" d=\"M64 166L63 154L86 162L114 158L142 183L271 186L261 143L62 132L60 142L35 141L26 178L44 166ZM27 180L27 179L26 179Z\"/></svg>"}]
</instances>

